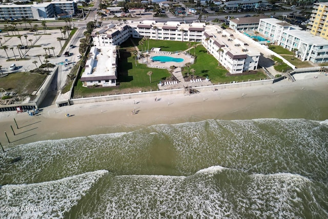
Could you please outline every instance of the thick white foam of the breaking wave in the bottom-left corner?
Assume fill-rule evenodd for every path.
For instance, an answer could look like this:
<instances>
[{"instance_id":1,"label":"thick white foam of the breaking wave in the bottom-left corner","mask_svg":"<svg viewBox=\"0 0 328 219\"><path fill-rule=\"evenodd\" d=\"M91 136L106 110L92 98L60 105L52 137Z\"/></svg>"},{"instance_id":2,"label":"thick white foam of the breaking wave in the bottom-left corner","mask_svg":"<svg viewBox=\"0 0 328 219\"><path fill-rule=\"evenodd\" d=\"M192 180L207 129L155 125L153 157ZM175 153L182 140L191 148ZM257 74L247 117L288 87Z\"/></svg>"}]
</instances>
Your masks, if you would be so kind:
<instances>
[{"instance_id":1,"label":"thick white foam of the breaking wave in the bottom-left corner","mask_svg":"<svg viewBox=\"0 0 328 219\"><path fill-rule=\"evenodd\" d=\"M19 211L1 211L1 218L64 218L65 213L76 205L90 188L107 175L107 170L98 170L57 181L5 185L0 190L0 206L18 207ZM21 211L22 207L36 208Z\"/></svg>"}]
</instances>

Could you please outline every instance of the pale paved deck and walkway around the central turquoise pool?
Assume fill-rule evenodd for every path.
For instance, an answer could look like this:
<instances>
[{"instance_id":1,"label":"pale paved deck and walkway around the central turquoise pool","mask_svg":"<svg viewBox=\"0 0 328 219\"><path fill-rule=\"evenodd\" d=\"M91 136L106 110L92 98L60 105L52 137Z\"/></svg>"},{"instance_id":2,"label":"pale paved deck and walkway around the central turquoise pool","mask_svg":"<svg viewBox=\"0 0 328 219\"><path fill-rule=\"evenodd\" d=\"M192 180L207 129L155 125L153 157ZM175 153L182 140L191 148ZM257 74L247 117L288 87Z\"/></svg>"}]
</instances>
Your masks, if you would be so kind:
<instances>
[{"instance_id":1,"label":"pale paved deck and walkway around the central turquoise pool","mask_svg":"<svg viewBox=\"0 0 328 219\"><path fill-rule=\"evenodd\" d=\"M166 51L159 51L159 52L149 52L148 53L148 62L147 62L147 57L145 58L139 58L139 63L144 62L144 64L147 64L147 67L149 68L163 68L170 70L171 66L177 67L173 71L173 75L176 78L176 80L172 80L171 83L170 81L169 84L164 84L164 81L162 84L158 84L158 89L159 90L170 90L170 89L178 89L178 88L186 88L186 87L199 87L199 86L209 86L212 85L211 81L206 80L205 78L202 78L200 81L200 78L198 78L198 82L185 82L185 79L182 76L181 72L181 67L185 66L187 63L194 63L194 57L189 54L188 52L178 52L178 53L172 53L166 52ZM183 58L184 61L180 63L176 62L159 62L159 61L152 61L150 57L152 56L171 56L175 58ZM196 78L196 76L195 76Z\"/></svg>"}]
</instances>

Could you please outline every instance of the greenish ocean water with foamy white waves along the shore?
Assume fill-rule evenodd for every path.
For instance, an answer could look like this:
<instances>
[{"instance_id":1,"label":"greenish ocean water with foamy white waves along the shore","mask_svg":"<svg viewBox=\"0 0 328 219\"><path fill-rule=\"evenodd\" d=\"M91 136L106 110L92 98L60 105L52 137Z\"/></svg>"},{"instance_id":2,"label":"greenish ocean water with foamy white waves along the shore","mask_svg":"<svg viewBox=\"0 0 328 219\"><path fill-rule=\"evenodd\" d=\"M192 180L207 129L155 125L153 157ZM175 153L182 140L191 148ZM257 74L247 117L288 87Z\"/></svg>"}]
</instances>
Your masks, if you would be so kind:
<instances>
[{"instance_id":1,"label":"greenish ocean water with foamy white waves along the shore","mask_svg":"<svg viewBox=\"0 0 328 219\"><path fill-rule=\"evenodd\" d=\"M0 218L328 218L328 121L154 125L21 145L0 164L0 206L31 208Z\"/></svg>"}]
</instances>

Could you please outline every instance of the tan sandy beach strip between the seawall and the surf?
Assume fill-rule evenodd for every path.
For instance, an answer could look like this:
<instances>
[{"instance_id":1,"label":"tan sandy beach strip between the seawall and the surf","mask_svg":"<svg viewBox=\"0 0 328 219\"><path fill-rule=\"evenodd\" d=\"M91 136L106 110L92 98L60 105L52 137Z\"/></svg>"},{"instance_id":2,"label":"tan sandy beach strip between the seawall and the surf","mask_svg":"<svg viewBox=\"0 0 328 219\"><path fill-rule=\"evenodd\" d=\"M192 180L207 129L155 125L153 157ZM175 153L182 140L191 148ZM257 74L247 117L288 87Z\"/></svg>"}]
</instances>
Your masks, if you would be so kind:
<instances>
[{"instance_id":1,"label":"tan sandy beach strip between the seawall and the surf","mask_svg":"<svg viewBox=\"0 0 328 219\"><path fill-rule=\"evenodd\" d=\"M296 82L224 89L192 95L164 95L0 113L0 142L5 149L21 144L93 134L133 131L155 124L177 124L207 119L306 118L326 120L328 76L320 73L294 75ZM317 78L315 78L317 76ZM310 95L310 96L309 96ZM133 114L133 110L135 113ZM313 112L321 110L321 116ZM65 114L70 116L66 117ZM18 129L14 122L17 122ZM13 133L11 127L15 134ZM8 143L7 137L10 143Z\"/></svg>"}]
</instances>

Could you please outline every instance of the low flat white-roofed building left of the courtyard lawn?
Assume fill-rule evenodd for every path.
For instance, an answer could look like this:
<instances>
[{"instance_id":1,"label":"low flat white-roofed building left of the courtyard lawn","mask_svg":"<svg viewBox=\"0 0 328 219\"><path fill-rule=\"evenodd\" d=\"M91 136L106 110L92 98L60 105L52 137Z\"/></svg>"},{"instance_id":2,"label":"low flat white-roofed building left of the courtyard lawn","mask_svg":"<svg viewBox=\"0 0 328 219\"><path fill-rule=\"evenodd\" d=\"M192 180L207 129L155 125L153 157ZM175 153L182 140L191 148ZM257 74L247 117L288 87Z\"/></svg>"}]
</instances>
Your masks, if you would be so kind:
<instances>
[{"instance_id":1,"label":"low flat white-roofed building left of the courtyard lawn","mask_svg":"<svg viewBox=\"0 0 328 219\"><path fill-rule=\"evenodd\" d=\"M91 47L80 81L88 86L116 86L116 46Z\"/></svg>"}]
</instances>

